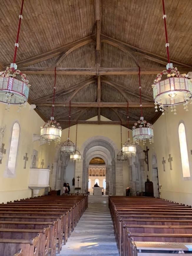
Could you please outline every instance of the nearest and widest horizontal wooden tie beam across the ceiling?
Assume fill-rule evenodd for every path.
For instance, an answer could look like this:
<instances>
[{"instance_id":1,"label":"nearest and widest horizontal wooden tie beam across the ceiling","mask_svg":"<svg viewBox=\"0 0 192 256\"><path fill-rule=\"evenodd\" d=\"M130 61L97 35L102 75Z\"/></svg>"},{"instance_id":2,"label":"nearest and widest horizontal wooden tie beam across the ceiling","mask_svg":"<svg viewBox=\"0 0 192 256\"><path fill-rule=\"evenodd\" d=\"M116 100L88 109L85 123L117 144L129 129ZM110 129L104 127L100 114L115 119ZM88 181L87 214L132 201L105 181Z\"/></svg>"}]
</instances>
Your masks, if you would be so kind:
<instances>
[{"instance_id":1,"label":"nearest and widest horizontal wooden tie beam across the ceiling","mask_svg":"<svg viewBox=\"0 0 192 256\"><path fill-rule=\"evenodd\" d=\"M54 68L45 67L18 67L22 73L34 75L54 75ZM179 68L180 73L190 72L188 68ZM191 68L192 71L192 68ZM141 75L157 75L162 72L162 67L141 67ZM57 68L57 75L138 75L138 67L132 68Z\"/></svg>"}]
</instances>

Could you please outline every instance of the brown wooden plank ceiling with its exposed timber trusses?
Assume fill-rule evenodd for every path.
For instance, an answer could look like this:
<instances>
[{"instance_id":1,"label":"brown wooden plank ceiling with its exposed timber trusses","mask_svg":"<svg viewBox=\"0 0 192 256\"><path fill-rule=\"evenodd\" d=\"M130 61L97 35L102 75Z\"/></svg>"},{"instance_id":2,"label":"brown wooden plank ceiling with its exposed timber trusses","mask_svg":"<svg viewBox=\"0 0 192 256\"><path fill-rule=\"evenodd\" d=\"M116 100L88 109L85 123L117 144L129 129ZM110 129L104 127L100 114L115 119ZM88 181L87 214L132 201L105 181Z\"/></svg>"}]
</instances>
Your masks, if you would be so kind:
<instances>
[{"instance_id":1,"label":"brown wooden plank ceiling with its exposed timber trusses","mask_svg":"<svg viewBox=\"0 0 192 256\"><path fill-rule=\"evenodd\" d=\"M0 0L0 68L12 62L21 0ZM166 0L170 56L181 72L192 71L191 0ZM54 116L67 127L98 115L130 127L140 118L138 67L144 119L159 117L151 84L165 69L162 1L25 0L18 68L32 85L29 103L50 118L54 67L57 67Z\"/></svg>"}]
</instances>

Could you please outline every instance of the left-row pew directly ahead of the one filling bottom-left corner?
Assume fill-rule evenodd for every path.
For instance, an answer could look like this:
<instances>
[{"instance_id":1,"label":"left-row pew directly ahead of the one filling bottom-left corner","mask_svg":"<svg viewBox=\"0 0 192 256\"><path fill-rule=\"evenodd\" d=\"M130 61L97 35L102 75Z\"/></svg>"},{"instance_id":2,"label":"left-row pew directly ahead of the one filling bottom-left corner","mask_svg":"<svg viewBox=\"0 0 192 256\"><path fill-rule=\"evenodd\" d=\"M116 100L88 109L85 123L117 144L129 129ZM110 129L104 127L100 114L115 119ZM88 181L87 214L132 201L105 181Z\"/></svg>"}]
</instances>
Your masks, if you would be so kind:
<instances>
[{"instance_id":1,"label":"left-row pew directly ahead of the one filling bottom-left corner","mask_svg":"<svg viewBox=\"0 0 192 256\"><path fill-rule=\"evenodd\" d=\"M39 235L39 255L46 256L49 252L50 226L44 229L9 229L0 228L0 239L30 240Z\"/></svg>"}]
</instances>

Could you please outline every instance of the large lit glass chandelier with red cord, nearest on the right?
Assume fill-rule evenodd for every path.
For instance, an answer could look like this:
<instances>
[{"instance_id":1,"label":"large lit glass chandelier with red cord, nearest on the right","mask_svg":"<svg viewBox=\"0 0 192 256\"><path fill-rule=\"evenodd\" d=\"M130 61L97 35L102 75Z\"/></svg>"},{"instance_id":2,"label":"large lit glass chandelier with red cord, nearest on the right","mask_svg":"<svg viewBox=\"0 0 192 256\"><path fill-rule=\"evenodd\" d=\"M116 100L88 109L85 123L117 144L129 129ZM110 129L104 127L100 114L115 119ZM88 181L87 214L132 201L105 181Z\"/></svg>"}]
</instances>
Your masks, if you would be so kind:
<instances>
[{"instance_id":1,"label":"large lit glass chandelier with red cord, nearest on the right","mask_svg":"<svg viewBox=\"0 0 192 256\"><path fill-rule=\"evenodd\" d=\"M188 79L187 74L180 74L177 68L174 68L173 64L170 63L164 0L162 0L162 4L168 64L166 70L157 74L156 79L153 81L153 98L155 101L155 112L158 111L158 104L163 115L164 106L171 106L171 112L174 112L176 115L177 104L183 103L184 109L188 111L188 101L192 97L192 79ZM167 78L161 80L162 75L166 75Z\"/></svg>"}]
</instances>

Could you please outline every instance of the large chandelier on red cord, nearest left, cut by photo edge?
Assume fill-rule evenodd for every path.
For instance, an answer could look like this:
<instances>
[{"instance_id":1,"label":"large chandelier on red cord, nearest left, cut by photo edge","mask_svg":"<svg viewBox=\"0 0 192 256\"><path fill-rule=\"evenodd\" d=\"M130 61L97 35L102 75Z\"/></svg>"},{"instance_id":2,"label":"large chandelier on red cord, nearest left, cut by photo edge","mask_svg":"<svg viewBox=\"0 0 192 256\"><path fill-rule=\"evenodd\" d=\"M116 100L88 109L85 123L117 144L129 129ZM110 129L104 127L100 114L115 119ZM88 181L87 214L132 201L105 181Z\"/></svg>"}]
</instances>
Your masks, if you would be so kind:
<instances>
[{"instance_id":1,"label":"large chandelier on red cord, nearest left, cut by photo edge","mask_svg":"<svg viewBox=\"0 0 192 256\"><path fill-rule=\"evenodd\" d=\"M10 67L7 67L5 71L0 72L0 102L7 104L6 109L9 111L10 104L19 105L18 111L21 106L26 107L28 96L29 96L29 80L26 79L26 75L22 74L20 70L17 69L16 65L16 55L17 48L19 47L19 32L21 27L21 19L23 19L24 0L21 4L21 12L19 15L19 26L17 30L17 38L15 43L15 53L13 63ZM21 80L16 78L16 75L21 76Z\"/></svg>"}]
</instances>

